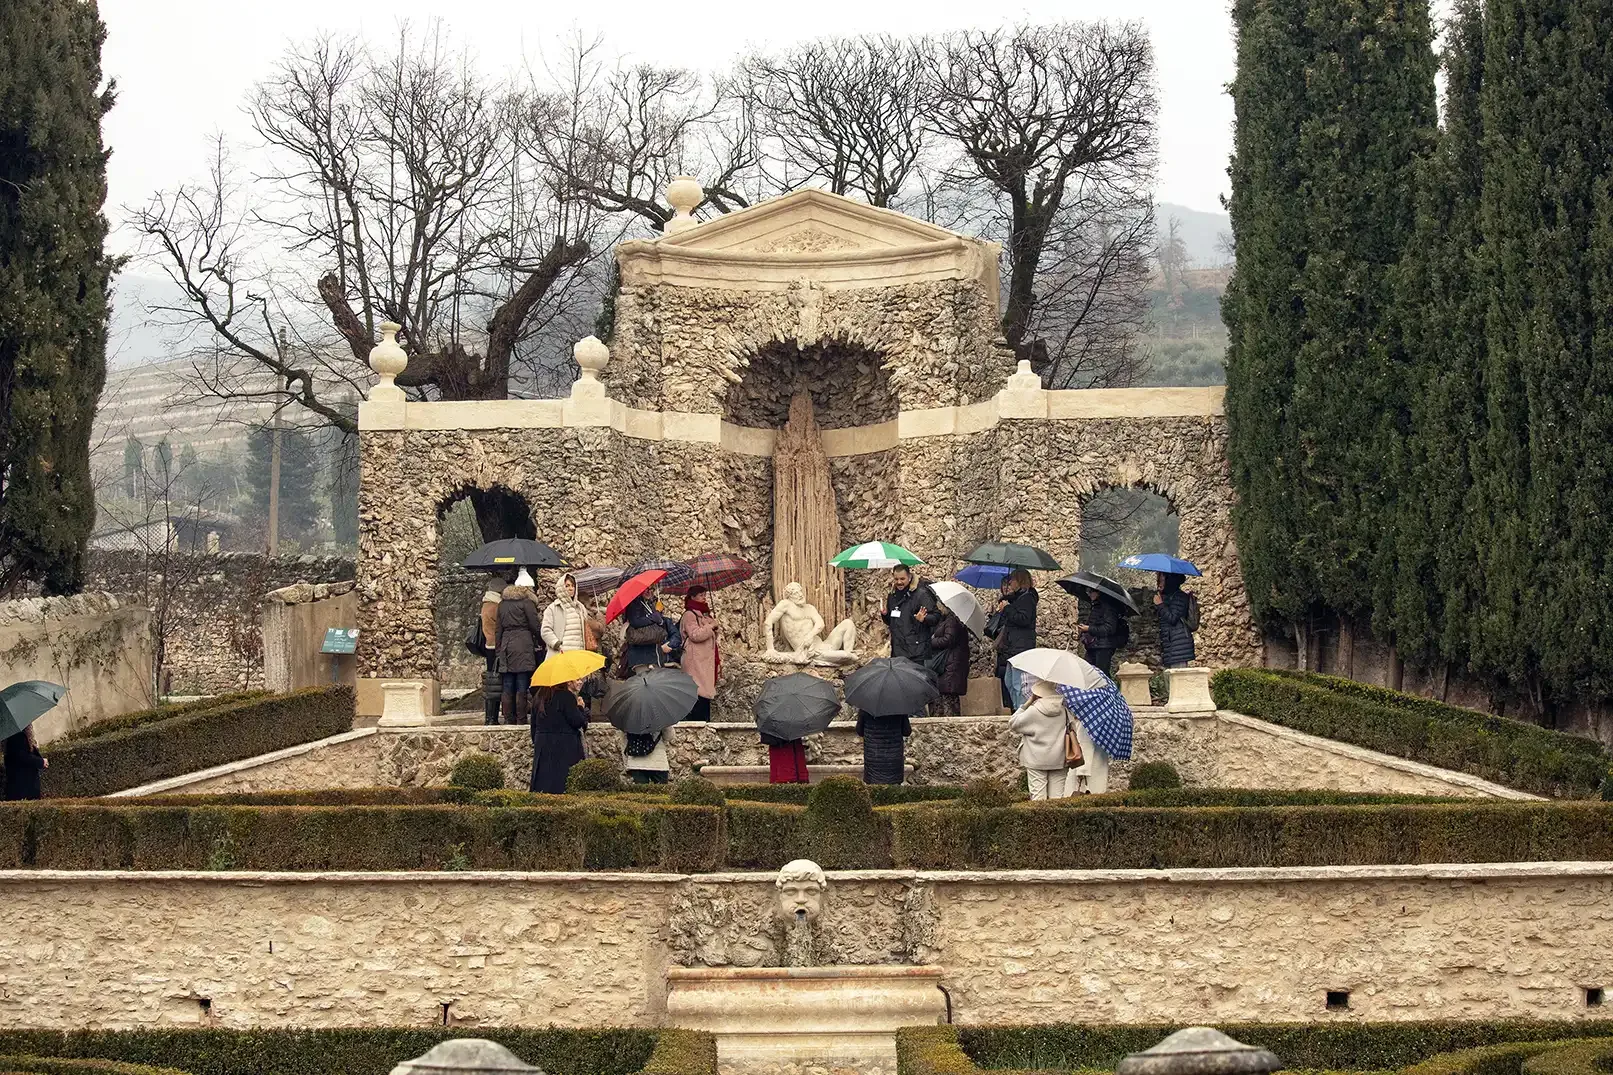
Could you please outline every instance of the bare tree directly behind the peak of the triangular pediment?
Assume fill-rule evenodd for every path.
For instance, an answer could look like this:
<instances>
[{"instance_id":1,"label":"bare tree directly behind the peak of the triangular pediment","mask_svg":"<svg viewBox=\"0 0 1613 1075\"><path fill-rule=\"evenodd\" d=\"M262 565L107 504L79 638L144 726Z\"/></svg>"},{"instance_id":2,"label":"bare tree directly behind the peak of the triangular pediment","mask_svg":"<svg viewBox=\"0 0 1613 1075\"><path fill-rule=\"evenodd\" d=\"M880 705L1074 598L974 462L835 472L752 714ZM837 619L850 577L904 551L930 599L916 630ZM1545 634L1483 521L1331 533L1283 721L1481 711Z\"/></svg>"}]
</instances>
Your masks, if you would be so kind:
<instances>
[{"instance_id":1,"label":"bare tree directly behind the peak of the triangular pediment","mask_svg":"<svg viewBox=\"0 0 1613 1075\"><path fill-rule=\"evenodd\" d=\"M821 181L884 208L924 157L926 71L915 39L823 39L744 58L727 92L753 111L774 186Z\"/></svg>"}]
</instances>

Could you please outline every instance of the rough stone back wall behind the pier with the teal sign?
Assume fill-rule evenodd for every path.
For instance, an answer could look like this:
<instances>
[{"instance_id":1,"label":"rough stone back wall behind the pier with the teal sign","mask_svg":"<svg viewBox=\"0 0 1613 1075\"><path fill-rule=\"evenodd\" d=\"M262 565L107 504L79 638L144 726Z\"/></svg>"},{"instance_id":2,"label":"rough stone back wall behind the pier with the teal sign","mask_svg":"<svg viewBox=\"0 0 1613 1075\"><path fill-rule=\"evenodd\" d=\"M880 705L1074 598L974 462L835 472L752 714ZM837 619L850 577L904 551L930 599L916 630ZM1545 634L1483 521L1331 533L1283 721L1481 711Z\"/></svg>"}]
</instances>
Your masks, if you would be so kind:
<instances>
[{"instance_id":1,"label":"rough stone back wall behind the pier with the teal sign","mask_svg":"<svg viewBox=\"0 0 1613 1075\"><path fill-rule=\"evenodd\" d=\"M165 570L176 576L173 586L165 581ZM297 583L352 578L353 562L340 557L221 552L165 560L140 552L92 550L85 586L148 609L166 594L169 691L223 694L263 686L265 594Z\"/></svg>"}]
</instances>

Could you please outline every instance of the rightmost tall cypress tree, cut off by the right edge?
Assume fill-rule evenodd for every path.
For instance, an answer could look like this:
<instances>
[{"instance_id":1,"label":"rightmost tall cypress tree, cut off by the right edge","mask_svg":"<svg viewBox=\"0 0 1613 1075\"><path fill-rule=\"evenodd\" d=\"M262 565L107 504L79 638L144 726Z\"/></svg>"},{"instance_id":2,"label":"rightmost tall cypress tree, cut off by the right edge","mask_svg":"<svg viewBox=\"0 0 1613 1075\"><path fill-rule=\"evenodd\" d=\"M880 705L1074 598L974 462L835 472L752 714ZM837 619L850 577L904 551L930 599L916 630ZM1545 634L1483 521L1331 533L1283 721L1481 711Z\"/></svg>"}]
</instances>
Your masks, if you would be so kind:
<instances>
[{"instance_id":1,"label":"rightmost tall cypress tree, cut off by the right edge","mask_svg":"<svg viewBox=\"0 0 1613 1075\"><path fill-rule=\"evenodd\" d=\"M1479 668L1536 705L1613 694L1608 176L1613 0L1492 0Z\"/></svg>"}]
</instances>

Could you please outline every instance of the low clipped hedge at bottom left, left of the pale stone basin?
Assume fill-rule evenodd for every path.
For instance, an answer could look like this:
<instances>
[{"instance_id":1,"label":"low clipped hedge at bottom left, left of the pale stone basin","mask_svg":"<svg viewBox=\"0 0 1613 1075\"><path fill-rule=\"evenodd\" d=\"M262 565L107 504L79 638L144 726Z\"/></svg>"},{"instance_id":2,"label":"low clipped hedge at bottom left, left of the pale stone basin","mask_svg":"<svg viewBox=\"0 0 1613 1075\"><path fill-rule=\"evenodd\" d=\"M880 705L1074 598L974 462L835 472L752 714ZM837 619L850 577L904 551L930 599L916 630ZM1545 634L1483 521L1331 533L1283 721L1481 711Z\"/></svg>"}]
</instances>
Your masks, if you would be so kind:
<instances>
[{"instance_id":1,"label":"low clipped hedge at bottom left, left of the pale stone basin","mask_svg":"<svg viewBox=\"0 0 1613 1075\"><path fill-rule=\"evenodd\" d=\"M160 1062L189 1075L389 1075L448 1038L490 1038L548 1075L716 1075L715 1038L687 1030L0 1030L0 1052Z\"/></svg>"}]
</instances>

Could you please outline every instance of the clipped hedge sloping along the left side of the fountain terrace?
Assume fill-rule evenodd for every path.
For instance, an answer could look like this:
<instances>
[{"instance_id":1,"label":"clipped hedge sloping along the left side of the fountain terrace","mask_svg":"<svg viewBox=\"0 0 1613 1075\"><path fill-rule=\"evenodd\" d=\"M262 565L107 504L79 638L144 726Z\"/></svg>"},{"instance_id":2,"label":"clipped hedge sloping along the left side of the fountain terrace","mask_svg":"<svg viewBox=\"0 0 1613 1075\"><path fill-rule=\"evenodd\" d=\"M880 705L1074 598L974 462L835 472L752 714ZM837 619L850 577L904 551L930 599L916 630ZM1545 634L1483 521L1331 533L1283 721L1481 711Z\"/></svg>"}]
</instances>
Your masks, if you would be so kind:
<instances>
[{"instance_id":1,"label":"clipped hedge sloping along the left side of the fountain terrace","mask_svg":"<svg viewBox=\"0 0 1613 1075\"><path fill-rule=\"evenodd\" d=\"M353 726L353 688L269 694L52 744L47 799L84 799L324 739Z\"/></svg>"}]
</instances>

